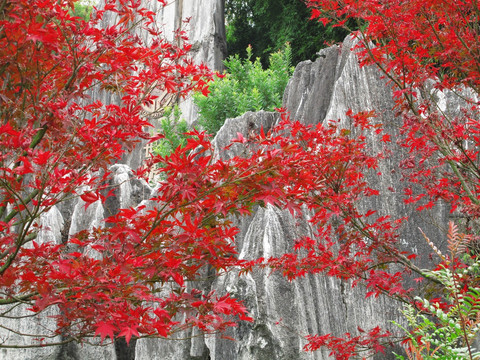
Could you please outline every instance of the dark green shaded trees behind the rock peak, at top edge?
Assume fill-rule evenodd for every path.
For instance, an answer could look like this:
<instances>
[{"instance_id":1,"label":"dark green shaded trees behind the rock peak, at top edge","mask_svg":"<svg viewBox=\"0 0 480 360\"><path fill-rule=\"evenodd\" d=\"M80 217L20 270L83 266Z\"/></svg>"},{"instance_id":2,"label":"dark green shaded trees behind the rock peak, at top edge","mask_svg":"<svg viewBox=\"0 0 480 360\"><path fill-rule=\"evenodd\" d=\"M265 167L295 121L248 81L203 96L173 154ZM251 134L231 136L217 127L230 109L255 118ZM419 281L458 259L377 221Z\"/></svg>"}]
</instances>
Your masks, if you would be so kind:
<instances>
[{"instance_id":1,"label":"dark green shaded trees behind the rock peak, at top edge","mask_svg":"<svg viewBox=\"0 0 480 360\"><path fill-rule=\"evenodd\" d=\"M345 29L310 21L301 0L226 0L225 9L228 53L245 58L245 48L252 45L254 57L264 66L286 42L297 64L313 60L325 42L340 42L347 35Z\"/></svg>"}]
</instances>

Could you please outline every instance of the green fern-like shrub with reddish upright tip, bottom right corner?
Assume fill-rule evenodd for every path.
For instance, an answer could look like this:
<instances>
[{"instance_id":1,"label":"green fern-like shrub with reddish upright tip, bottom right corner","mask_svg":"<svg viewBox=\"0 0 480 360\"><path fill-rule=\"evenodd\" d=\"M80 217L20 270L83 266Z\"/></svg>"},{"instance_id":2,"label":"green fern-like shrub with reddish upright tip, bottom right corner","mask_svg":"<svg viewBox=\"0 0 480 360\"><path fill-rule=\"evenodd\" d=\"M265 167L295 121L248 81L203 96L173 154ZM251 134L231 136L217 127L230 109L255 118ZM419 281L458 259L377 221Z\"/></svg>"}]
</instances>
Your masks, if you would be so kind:
<instances>
[{"instance_id":1,"label":"green fern-like shrub with reddish upright tip, bottom right corner","mask_svg":"<svg viewBox=\"0 0 480 360\"><path fill-rule=\"evenodd\" d=\"M425 272L442 289L443 299L415 297L417 309L412 305L404 307L402 313L408 327L394 324L407 335L407 357L395 354L398 360L480 359L480 352L472 346L480 334L480 260L461 255L471 238L457 230L457 226L450 223L449 257L425 237L443 260L435 270Z\"/></svg>"}]
</instances>

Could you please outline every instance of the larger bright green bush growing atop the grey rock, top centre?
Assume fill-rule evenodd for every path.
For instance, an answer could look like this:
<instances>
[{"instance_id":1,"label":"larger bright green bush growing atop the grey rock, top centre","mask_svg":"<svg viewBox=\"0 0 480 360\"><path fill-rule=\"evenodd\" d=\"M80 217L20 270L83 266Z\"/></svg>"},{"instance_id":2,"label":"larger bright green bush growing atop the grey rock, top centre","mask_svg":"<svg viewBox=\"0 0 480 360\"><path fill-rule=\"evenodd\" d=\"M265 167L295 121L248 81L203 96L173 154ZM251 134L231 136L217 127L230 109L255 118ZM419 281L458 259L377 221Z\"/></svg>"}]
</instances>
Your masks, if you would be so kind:
<instances>
[{"instance_id":1,"label":"larger bright green bush growing atop the grey rock, top centre","mask_svg":"<svg viewBox=\"0 0 480 360\"><path fill-rule=\"evenodd\" d=\"M281 107L283 92L293 73L290 45L270 55L267 70L263 70L260 59L251 60L252 52L249 46L246 60L237 54L225 61L227 73L211 83L208 97L194 95L199 124L207 132L216 134L227 118L247 111L274 111Z\"/></svg>"}]
</instances>

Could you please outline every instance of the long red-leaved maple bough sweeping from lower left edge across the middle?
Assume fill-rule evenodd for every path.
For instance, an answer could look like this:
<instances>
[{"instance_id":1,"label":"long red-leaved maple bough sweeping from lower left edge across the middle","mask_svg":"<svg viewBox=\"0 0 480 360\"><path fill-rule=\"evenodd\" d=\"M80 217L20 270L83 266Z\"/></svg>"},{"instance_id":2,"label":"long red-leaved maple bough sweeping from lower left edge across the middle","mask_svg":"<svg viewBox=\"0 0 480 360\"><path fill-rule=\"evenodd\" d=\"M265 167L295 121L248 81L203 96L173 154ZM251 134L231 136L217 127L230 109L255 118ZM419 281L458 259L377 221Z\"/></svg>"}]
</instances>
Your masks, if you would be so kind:
<instances>
[{"instance_id":1,"label":"long red-leaved maple bough sweeping from lower left edge across the middle","mask_svg":"<svg viewBox=\"0 0 480 360\"><path fill-rule=\"evenodd\" d=\"M355 115L362 129L369 129L368 116ZM237 300L189 290L187 282L195 284L209 271L248 271L251 262L236 256L232 217L251 214L258 205L279 206L293 215L306 206L312 225L320 227L318 241L297 243L307 256L293 254L290 262L286 255L264 264L290 278L322 271L350 279L372 274L367 268L374 254L379 261L391 257L394 228L385 218L363 223L372 212L362 214L354 206L360 197L377 194L364 173L376 171L380 156L368 154L364 137L354 139L335 123L311 127L285 120L255 139L239 135L234 144L245 146L249 156L222 160L204 134L189 135L184 148L150 160L150 166L162 164L165 180L148 207L122 209L105 220L109 226L83 231L61 245L32 241L25 247L27 235L21 238L5 226L4 301L22 298L35 312L56 305L57 332L76 338L95 333L128 341L190 326L216 332L234 326L236 318L251 320ZM82 199L88 206L97 197ZM19 221L24 213L15 211L13 220ZM18 239L24 242L20 246ZM380 291L393 292L393 279Z\"/></svg>"}]
</instances>

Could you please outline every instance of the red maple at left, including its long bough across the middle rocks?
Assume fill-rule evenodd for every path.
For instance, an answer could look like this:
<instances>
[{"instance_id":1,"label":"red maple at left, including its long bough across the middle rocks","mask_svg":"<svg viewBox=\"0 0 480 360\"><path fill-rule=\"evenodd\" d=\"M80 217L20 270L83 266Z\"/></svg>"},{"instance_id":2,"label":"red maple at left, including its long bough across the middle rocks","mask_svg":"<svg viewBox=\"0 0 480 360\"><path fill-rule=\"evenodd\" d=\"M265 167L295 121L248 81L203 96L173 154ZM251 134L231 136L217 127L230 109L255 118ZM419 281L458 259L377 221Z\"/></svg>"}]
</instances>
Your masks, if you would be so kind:
<instances>
[{"instance_id":1,"label":"red maple at left, including its long bough across the middle rocks","mask_svg":"<svg viewBox=\"0 0 480 360\"><path fill-rule=\"evenodd\" d=\"M370 192L360 169L375 167L376 159L362 139L337 134L333 124L285 122L255 139L239 135L236 143L250 156L230 160L217 159L206 135L194 131L184 148L149 160L162 165L164 178L152 206L120 209L104 226L62 241L39 241L48 231L42 216L53 207L72 198L86 207L105 201L109 166L149 138L142 108L158 101L157 90L206 91L211 76L188 59L183 33L176 45L162 38L141 2L105 1L88 21L72 15L73 6L0 2L0 305L7 315L20 305L32 314L56 309L50 331L4 330L41 340L28 346L45 346L89 336L167 337L189 327L217 332L251 320L229 294L192 285L206 271L263 263L237 258L232 218L266 204L292 213L304 203L338 211L337 202ZM111 15L116 22L102 27ZM138 29L150 34L148 43ZM92 91L121 101L92 101ZM326 251L326 259L332 256ZM339 272L353 271L347 265Z\"/></svg>"}]
</instances>

